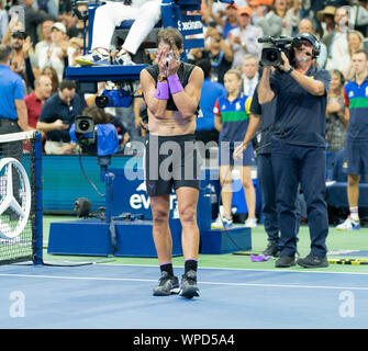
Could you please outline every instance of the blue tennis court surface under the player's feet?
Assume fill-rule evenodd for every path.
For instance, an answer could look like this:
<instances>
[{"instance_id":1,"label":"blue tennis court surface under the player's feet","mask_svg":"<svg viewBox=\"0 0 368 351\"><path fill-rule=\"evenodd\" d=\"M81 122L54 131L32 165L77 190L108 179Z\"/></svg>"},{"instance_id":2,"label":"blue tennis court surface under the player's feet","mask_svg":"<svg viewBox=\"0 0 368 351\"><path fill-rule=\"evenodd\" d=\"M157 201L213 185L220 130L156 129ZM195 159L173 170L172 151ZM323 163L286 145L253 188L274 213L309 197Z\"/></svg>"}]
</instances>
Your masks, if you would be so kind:
<instances>
[{"instance_id":1,"label":"blue tennis court surface under the player's feet","mask_svg":"<svg viewBox=\"0 0 368 351\"><path fill-rule=\"evenodd\" d=\"M177 275L183 273L176 268ZM0 267L0 328L367 328L368 274L200 269L199 298L152 296L158 268Z\"/></svg>"}]
</instances>

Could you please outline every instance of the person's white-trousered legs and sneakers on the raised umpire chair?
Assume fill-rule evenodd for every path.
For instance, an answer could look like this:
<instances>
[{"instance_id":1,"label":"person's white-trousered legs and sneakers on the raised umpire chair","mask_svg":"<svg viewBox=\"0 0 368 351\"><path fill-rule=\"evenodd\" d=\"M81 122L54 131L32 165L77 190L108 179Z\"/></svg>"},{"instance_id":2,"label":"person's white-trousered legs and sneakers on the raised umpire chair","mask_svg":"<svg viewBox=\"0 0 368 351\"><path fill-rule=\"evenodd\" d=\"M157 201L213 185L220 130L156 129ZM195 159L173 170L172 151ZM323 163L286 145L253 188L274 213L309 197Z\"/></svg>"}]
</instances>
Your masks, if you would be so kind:
<instances>
[{"instance_id":1,"label":"person's white-trousered legs and sneakers on the raised umpire chair","mask_svg":"<svg viewBox=\"0 0 368 351\"><path fill-rule=\"evenodd\" d=\"M107 2L99 7L94 13L92 52L89 55L76 58L81 66L109 65L109 45L115 26L122 21L135 20L114 58L118 65L134 65L131 55L135 55L140 45L154 29L161 16L160 0L132 0L124 2Z\"/></svg>"}]
</instances>

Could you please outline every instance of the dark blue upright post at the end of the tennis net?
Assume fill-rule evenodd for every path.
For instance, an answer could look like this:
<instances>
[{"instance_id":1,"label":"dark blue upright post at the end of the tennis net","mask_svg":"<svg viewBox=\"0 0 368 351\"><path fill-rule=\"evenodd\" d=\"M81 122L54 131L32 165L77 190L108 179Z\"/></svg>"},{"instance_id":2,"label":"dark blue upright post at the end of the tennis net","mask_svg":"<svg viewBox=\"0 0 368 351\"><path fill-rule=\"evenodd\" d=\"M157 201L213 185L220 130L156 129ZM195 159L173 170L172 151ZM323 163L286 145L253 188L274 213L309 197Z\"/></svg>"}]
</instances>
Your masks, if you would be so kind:
<instances>
[{"instance_id":1,"label":"dark blue upright post at the end of the tennis net","mask_svg":"<svg viewBox=\"0 0 368 351\"><path fill-rule=\"evenodd\" d=\"M42 206L42 135L35 133L34 143L36 213L35 213L35 252L33 264L43 264L43 206Z\"/></svg>"}]
</instances>

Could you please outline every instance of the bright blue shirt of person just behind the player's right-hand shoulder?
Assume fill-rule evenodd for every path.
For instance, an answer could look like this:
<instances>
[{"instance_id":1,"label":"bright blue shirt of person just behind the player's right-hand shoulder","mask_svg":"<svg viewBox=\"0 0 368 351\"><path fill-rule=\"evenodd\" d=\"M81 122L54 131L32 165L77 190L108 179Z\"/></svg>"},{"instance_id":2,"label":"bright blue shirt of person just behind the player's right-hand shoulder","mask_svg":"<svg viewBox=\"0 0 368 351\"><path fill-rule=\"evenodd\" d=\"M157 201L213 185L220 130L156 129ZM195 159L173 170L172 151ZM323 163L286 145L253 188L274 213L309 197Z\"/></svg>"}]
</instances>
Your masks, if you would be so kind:
<instances>
[{"instance_id":1,"label":"bright blue shirt of person just behind the player's right-hand shoulder","mask_svg":"<svg viewBox=\"0 0 368 351\"><path fill-rule=\"evenodd\" d=\"M203 117L197 118L197 131L212 131L214 129L213 107L216 99L226 95L224 86L211 81L205 78L201 91L201 100L199 106L202 111Z\"/></svg>"}]
</instances>

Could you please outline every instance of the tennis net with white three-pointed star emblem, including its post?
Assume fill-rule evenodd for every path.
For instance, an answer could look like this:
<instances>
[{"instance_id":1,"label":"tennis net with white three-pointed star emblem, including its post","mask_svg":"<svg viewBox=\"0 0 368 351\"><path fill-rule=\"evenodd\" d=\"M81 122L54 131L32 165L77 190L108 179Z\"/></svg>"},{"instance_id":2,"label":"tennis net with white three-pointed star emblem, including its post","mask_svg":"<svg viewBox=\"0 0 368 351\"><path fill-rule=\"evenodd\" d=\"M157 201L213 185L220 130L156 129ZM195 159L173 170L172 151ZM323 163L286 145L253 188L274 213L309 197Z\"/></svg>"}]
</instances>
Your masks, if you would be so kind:
<instances>
[{"instance_id":1,"label":"tennis net with white three-pointed star emblem, including its post","mask_svg":"<svg viewBox=\"0 0 368 351\"><path fill-rule=\"evenodd\" d=\"M0 264L42 263L42 137L0 135Z\"/></svg>"}]
</instances>

